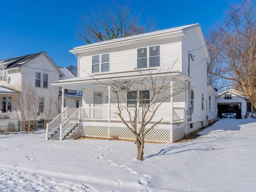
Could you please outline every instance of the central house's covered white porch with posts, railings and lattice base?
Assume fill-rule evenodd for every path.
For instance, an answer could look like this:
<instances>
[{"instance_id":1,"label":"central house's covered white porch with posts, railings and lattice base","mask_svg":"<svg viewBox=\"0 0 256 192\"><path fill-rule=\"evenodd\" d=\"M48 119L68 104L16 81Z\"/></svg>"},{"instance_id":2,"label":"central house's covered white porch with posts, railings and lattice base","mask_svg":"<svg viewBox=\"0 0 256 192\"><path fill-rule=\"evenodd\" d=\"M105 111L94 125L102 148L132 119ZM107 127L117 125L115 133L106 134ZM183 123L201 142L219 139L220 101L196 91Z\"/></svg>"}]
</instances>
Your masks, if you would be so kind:
<instances>
[{"instance_id":1,"label":"central house's covered white porch with posts, railings and lattice base","mask_svg":"<svg viewBox=\"0 0 256 192\"><path fill-rule=\"evenodd\" d=\"M170 74L177 75L177 74ZM174 81L170 81L170 89L166 90L168 93L172 93L175 89L174 84L186 84L187 79L179 74L179 78ZM74 126L77 125L77 131L75 131L76 135L83 137L102 137L102 138L111 138L116 135L117 132L114 130L119 130L118 138L122 139L130 139L133 137L129 130L126 130L121 118L118 116L118 113L121 112L123 119L126 122L130 122L131 118L134 118L134 114L138 114L137 121L138 123L141 121L142 110L141 103L139 100L129 102L129 98L127 95L122 95L122 101L119 101L122 106L127 106L121 108L121 111L117 108L116 97L113 91L111 91L110 85L108 85L111 79L103 79L105 83L99 83L98 80L93 79L91 77L83 77L82 78L74 78L73 81L67 79L66 82L57 82L55 85L62 87L62 93L65 89L78 89L83 90L83 98L82 98L82 107L79 109L70 109L64 108L62 99L62 113L59 115L58 123L55 123L53 126L53 121L47 126L48 134L46 135L46 139L49 139L49 135L54 131L60 124L59 131L57 131L57 135L60 140L67 139L66 135L70 133L70 130L74 129ZM98 76L99 79L99 76ZM172 78L170 78L172 79ZM168 81L168 79L167 79ZM53 85L54 85L53 84ZM141 89L141 91L145 91L145 87ZM148 91L151 94L150 90ZM163 93L165 94L165 93ZM133 103L134 105L130 105ZM150 118L154 111L150 111L147 114L146 118ZM166 100L162 105L155 111L153 118L150 121L150 124L154 124L156 122L161 121L157 127L156 131L161 134L164 134L163 137L168 137L168 139L164 139L160 141L170 140L173 141L172 135L175 131L172 129L179 129L179 134L184 133L184 123L186 116L186 92L180 92L179 94L174 95L169 100ZM69 114L69 115L68 115ZM62 123L63 122L63 123ZM71 123L70 123L71 122ZM149 124L149 125L150 125ZM111 131L112 130L112 131ZM112 133L111 133L112 132ZM124 132L127 132L124 134ZM155 132L155 131L154 131ZM164 133L165 132L165 133ZM168 133L167 133L168 132ZM73 133L72 133L73 134ZM122 134L125 136L122 137ZM62 136L61 136L62 135ZM130 135L130 137L127 137ZM69 135L68 135L69 136ZM180 137L180 136L178 136ZM183 137L183 136L182 136ZM158 140L154 135L151 136L150 141Z\"/></svg>"}]
</instances>

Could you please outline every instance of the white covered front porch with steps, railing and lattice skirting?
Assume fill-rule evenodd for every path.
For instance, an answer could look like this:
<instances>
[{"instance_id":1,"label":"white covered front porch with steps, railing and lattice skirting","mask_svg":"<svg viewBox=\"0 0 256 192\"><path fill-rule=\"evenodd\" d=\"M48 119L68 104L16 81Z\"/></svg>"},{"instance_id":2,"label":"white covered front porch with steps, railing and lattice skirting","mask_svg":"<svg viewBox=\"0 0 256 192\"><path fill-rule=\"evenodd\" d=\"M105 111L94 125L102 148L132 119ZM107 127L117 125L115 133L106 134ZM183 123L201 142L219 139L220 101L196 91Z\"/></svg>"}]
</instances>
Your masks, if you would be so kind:
<instances>
[{"instance_id":1,"label":"white covered front porch with steps, railing and lattice skirting","mask_svg":"<svg viewBox=\"0 0 256 192\"><path fill-rule=\"evenodd\" d=\"M180 85L185 85L187 80L190 79L178 72L170 73L169 79L173 79L173 76L178 76L178 78L175 79L175 83L170 81L170 84L178 83ZM113 81L113 79L129 78L139 78L139 76L133 71L133 73L98 75L97 79L90 76L77 77L53 83L52 85L62 86L62 92L65 92L65 89L83 90L83 105L78 109L65 108L63 106L65 97L63 97L62 113L54 118L52 122L47 124L46 140L75 139L78 137L117 137L118 139L134 140L134 135L127 129L116 114L118 109L116 107L115 94L111 91L110 86L107 85ZM159 79L161 79L161 77L159 77ZM103 84L98 81L103 82ZM170 87L170 90L166 90L166 92L170 91L169 93L172 93L175 91L174 86ZM148 93L151 94L149 90L145 90L144 88L142 88L141 91L148 91ZM127 95L123 95L122 98L124 98L124 100L121 101L122 105L130 105L130 107L128 106L128 109L131 114L134 114L135 107L137 106L140 119L142 114L140 101L132 101L131 98L127 98ZM134 105L134 102L137 102L137 105ZM163 119L160 124L149 132L146 140L173 142L181 139L186 133L185 112L186 95L185 91L183 91L172 97L170 100L167 100L161 107L159 107L150 123L153 124L160 119ZM123 109L122 116L125 121L129 123L128 111ZM138 123L139 121L140 120L138 120Z\"/></svg>"}]
</instances>

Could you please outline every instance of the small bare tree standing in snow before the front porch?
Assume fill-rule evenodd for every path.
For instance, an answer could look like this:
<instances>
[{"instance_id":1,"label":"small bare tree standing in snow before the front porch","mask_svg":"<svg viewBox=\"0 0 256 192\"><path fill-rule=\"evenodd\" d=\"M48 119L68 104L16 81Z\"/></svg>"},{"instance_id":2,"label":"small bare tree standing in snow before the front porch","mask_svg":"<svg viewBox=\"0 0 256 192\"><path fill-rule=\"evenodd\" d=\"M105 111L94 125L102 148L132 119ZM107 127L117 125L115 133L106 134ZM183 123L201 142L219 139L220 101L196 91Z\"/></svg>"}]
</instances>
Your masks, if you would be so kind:
<instances>
[{"instance_id":1,"label":"small bare tree standing in snow before the front porch","mask_svg":"<svg viewBox=\"0 0 256 192\"><path fill-rule=\"evenodd\" d=\"M138 160L143 160L145 137L163 120L163 117L154 118L157 111L163 103L171 102L174 95L186 90L186 85L178 83L179 76L173 75L171 69L172 67L143 71L135 69L134 72L137 73L138 78L112 79L109 83L101 82L91 76L99 83L109 85L114 93L115 100L111 103L114 103L117 108L115 114L136 138ZM129 103L126 103L126 97L134 101L130 103L132 108L129 107Z\"/></svg>"}]
</instances>

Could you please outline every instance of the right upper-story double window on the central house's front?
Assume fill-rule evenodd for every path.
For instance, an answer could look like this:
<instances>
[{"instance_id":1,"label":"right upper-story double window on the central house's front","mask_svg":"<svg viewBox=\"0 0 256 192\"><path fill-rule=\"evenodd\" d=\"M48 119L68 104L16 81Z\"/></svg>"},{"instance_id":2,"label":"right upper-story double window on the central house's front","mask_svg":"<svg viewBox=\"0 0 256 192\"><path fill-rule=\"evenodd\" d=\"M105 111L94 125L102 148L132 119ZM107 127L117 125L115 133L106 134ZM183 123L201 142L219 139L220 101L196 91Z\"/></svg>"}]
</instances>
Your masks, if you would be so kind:
<instances>
[{"instance_id":1,"label":"right upper-story double window on the central house's front","mask_svg":"<svg viewBox=\"0 0 256 192\"><path fill-rule=\"evenodd\" d=\"M149 53L149 54L148 54ZM137 49L137 68L159 67L160 46L149 46Z\"/></svg>"}]
</instances>

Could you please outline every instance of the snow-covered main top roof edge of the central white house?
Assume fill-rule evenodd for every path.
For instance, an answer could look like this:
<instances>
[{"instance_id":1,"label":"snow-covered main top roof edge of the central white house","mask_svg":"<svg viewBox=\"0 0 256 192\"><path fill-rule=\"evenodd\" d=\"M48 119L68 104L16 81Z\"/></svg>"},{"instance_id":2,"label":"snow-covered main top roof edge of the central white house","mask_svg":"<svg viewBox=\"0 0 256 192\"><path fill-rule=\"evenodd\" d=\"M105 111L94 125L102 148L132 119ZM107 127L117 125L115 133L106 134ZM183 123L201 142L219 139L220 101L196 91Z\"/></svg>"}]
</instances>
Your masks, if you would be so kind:
<instances>
[{"instance_id":1,"label":"snow-covered main top roof edge of the central white house","mask_svg":"<svg viewBox=\"0 0 256 192\"><path fill-rule=\"evenodd\" d=\"M123 42L123 41L142 38L142 37L148 37L148 36L154 36L154 35L160 35L160 34L167 34L167 33L182 31L184 29L187 29L189 27L194 27L194 26L197 26L197 25L199 25L199 23L186 25L186 26L180 26L180 27L174 27L174 28L170 28L170 29L157 30L157 31L153 31L153 32L150 32L150 33L143 33L143 34L133 35L133 36L129 36L129 37L116 38L116 39L111 39L109 41L102 41L102 42L98 42L98 43L87 44L87 45L83 45L83 46L74 47L72 50L70 50L70 52L76 51L78 49L83 49L83 48L86 48L86 47L99 46L99 45L104 45L104 44Z\"/></svg>"}]
</instances>

